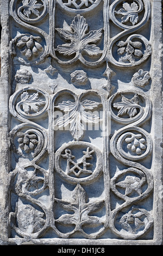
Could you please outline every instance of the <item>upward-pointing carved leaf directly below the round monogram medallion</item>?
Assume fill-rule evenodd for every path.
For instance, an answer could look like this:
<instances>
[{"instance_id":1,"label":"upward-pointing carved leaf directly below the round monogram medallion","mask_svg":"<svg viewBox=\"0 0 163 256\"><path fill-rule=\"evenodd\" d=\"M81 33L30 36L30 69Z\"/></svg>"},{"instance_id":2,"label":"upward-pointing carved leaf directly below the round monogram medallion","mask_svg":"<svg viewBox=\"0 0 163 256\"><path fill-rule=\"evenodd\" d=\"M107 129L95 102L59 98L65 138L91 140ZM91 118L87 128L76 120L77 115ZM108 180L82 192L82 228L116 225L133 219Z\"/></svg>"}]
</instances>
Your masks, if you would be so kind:
<instances>
[{"instance_id":1,"label":"upward-pointing carved leaf directly below the round monogram medallion","mask_svg":"<svg viewBox=\"0 0 163 256\"><path fill-rule=\"evenodd\" d=\"M82 228L83 224L99 224L99 218L96 216L89 216L93 211L101 209L104 201L96 200L93 203L86 203L87 195L80 184L76 186L72 192L73 202L67 202L60 199L55 199L62 208L71 210L73 214L64 214L56 220L62 224L75 224L76 229Z\"/></svg>"}]
</instances>

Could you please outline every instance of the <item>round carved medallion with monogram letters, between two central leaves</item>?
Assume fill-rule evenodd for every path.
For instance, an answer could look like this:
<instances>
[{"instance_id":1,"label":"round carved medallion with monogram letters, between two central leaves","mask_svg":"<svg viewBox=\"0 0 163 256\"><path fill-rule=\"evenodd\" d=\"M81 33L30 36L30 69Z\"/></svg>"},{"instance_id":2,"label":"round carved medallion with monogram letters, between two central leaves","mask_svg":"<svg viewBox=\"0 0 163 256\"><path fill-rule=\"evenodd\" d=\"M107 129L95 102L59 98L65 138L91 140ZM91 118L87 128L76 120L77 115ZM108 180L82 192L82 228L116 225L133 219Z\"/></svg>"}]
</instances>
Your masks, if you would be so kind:
<instances>
[{"instance_id":1,"label":"round carved medallion with monogram letters, between two central leaves","mask_svg":"<svg viewBox=\"0 0 163 256\"><path fill-rule=\"evenodd\" d=\"M91 143L70 142L55 153L55 170L71 183L91 182L102 172L102 153Z\"/></svg>"}]
</instances>

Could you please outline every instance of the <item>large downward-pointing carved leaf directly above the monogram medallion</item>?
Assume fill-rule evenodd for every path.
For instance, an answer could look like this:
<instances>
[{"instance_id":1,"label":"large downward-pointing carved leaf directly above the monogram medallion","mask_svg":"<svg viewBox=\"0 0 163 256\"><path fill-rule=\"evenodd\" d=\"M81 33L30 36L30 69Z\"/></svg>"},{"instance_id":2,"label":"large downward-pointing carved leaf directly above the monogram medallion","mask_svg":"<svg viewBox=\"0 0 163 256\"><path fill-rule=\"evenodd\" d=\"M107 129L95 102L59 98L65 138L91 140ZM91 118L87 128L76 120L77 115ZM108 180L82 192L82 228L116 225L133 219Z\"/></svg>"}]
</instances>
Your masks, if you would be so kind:
<instances>
[{"instance_id":1,"label":"large downward-pointing carved leaf directly above the monogram medallion","mask_svg":"<svg viewBox=\"0 0 163 256\"><path fill-rule=\"evenodd\" d=\"M85 109L92 110L99 105L98 102L84 100L80 102L63 101L57 106L60 110L67 112L63 117L60 117L57 121L57 126L66 127L70 124L70 131L75 139L80 139L83 136L84 125L81 121L85 123L97 124L99 122L99 117L97 115L86 112Z\"/></svg>"}]
</instances>

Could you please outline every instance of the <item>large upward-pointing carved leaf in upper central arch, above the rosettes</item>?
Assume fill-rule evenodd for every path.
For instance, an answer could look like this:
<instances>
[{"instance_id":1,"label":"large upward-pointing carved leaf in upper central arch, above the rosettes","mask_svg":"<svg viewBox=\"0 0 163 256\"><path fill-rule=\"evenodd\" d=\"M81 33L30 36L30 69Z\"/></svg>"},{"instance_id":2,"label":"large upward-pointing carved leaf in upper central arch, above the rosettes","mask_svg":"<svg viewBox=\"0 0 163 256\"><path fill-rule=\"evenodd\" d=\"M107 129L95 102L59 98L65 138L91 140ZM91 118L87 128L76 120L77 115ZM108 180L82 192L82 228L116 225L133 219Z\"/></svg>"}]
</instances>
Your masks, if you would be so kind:
<instances>
[{"instance_id":1,"label":"large upward-pointing carved leaf in upper central arch, above the rosettes","mask_svg":"<svg viewBox=\"0 0 163 256\"><path fill-rule=\"evenodd\" d=\"M71 40L71 43L58 45L56 50L65 56L82 52L91 57L101 54L101 49L95 43L101 39L102 29L86 33L87 29L86 20L79 14L74 17L71 26L66 25L65 28L56 28L61 38L66 41Z\"/></svg>"}]
</instances>

